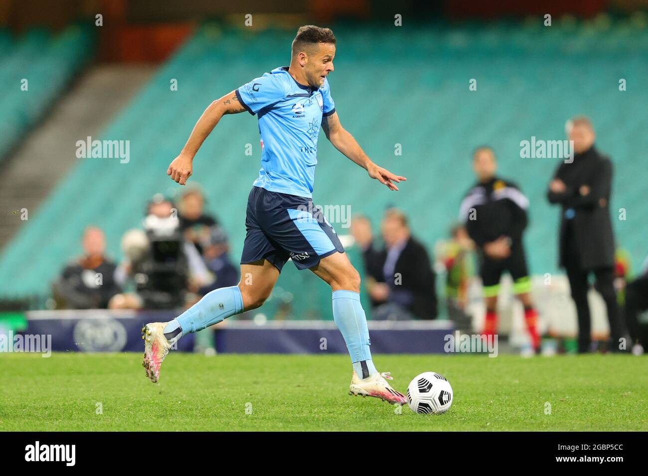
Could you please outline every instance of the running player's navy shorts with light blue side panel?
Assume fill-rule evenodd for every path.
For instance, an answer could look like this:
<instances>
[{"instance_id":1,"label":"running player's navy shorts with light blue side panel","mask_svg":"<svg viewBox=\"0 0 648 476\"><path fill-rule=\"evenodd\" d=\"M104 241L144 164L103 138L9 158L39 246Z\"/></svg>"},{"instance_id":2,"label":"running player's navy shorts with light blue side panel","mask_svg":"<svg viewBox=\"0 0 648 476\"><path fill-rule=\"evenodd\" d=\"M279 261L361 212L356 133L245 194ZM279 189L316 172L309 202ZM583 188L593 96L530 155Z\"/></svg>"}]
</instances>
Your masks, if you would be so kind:
<instances>
[{"instance_id":1,"label":"running player's navy shorts with light blue side panel","mask_svg":"<svg viewBox=\"0 0 648 476\"><path fill-rule=\"evenodd\" d=\"M292 259L297 269L307 269L344 253L338 234L309 198L252 187L245 225L241 264L265 258L281 271Z\"/></svg>"}]
</instances>

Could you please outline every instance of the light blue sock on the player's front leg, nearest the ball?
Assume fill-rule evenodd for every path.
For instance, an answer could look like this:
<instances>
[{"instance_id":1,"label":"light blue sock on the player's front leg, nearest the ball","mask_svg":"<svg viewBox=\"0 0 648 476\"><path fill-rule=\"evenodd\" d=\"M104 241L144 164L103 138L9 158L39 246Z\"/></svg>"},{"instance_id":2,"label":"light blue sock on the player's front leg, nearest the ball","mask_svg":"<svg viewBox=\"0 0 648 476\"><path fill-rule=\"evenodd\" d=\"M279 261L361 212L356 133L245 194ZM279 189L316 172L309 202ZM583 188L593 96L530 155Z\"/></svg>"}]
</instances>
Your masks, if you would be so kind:
<instances>
[{"instance_id":1,"label":"light blue sock on the player's front leg, nearest the ball","mask_svg":"<svg viewBox=\"0 0 648 476\"><path fill-rule=\"evenodd\" d=\"M333 291L333 319L347 344L353 370L360 378L376 373L371 361L369 329L360 294L354 291Z\"/></svg>"}]
</instances>

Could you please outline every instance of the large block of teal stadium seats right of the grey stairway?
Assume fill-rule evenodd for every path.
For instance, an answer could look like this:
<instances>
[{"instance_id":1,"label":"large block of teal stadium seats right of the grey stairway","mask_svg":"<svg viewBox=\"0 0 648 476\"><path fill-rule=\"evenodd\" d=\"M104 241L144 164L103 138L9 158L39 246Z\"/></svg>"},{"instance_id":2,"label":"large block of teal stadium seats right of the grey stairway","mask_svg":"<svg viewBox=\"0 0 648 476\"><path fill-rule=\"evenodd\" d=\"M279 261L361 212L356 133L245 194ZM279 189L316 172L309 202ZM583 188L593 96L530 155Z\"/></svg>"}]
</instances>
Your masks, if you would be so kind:
<instances>
[{"instance_id":1,"label":"large block of teal stadium seats right of the grey stairway","mask_svg":"<svg viewBox=\"0 0 648 476\"><path fill-rule=\"evenodd\" d=\"M635 268L648 252L645 199L648 150L648 29L628 21L555 21L489 25L353 27L337 25L332 95L342 124L376 163L408 177L389 192L320 137L314 201L351 205L375 224L388 205L402 208L416 236L432 251L456 220L474 178L470 152L491 144L500 173L531 201L526 235L533 274L557 272L558 210L544 193L557 159L522 159L520 141L564 139L566 119L592 117L597 144L615 166L612 215L619 245ZM66 260L79 251L86 225L106 230L109 252L121 257L124 231L139 227L156 192L179 186L166 176L203 109L225 93L289 62L294 32L240 32L202 25L100 139L130 140L128 164L80 159L0 258L2 295L47 293ZM0 48L1 48L0 43ZM170 80L178 91L170 91ZM469 91L469 80L477 91ZM619 91L619 79L627 91ZM6 93L5 93L6 94ZM14 96L11 96L15 100ZM83 138L80 138L83 139ZM246 155L252 144L253 155ZM395 144L402 155L395 155ZM238 260L245 236L246 199L259 169L256 119L226 117L196 157L192 181L231 236ZM348 229L335 224L340 234ZM352 254L358 262L357 251ZM284 302L295 319L331 319L327 286L310 273L284 268L268 318ZM365 306L368 308L368 306Z\"/></svg>"}]
</instances>

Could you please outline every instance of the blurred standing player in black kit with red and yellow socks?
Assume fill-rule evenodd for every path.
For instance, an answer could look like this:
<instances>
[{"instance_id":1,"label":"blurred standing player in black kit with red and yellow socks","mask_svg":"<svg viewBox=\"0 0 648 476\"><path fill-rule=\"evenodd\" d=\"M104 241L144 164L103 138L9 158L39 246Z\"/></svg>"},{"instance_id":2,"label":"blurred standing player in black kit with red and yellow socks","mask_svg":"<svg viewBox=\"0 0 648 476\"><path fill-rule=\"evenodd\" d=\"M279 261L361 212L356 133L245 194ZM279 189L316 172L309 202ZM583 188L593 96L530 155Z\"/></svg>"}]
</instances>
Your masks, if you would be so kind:
<instances>
[{"instance_id":1,"label":"blurred standing player in black kit with red and yellow socks","mask_svg":"<svg viewBox=\"0 0 648 476\"><path fill-rule=\"evenodd\" d=\"M478 147L472 157L472 166L478 183L461 202L459 217L480 252L481 284L486 299L483 334L492 338L497 333L500 277L508 271L513 278L513 291L524 305L531 345L537 352L540 346L537 312L531 300L531 280L522 244L529 200L515 184L495 175L497 163L492 148Z\"/></svg>"}]
</instances>

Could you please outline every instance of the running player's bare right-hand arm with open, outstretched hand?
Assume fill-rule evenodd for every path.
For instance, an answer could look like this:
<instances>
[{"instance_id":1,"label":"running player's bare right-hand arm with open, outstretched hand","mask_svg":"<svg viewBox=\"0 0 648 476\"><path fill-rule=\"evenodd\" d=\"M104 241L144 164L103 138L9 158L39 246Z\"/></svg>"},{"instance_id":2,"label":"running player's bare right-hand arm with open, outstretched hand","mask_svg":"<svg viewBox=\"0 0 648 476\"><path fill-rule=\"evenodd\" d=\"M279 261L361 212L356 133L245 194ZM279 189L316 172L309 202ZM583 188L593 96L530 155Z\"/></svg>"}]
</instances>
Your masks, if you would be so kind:
<instances>
[{"instance_id":1,"label":"running player's bare right-hand arm with open, outstretched hand","mask_svg":"<svg viewBox=\"0 0 648 476\"><path fill-rule=\"evenodd\" d=\"M349 157L356 164L367 170L369 177L378 180L380 183L386 185L389 190L398 190L399 188L394 185L394 182L400 183L401 180L407 180L405 177L392 174L386 168L377 166L367 157L360 144L356 142L345 128L340 124L338 113L332 113L330 116L322 118L322 129L326 134L327 139L335 146L337 150Z\"/></svg>"}]
</instances>

